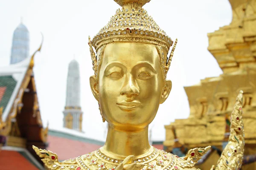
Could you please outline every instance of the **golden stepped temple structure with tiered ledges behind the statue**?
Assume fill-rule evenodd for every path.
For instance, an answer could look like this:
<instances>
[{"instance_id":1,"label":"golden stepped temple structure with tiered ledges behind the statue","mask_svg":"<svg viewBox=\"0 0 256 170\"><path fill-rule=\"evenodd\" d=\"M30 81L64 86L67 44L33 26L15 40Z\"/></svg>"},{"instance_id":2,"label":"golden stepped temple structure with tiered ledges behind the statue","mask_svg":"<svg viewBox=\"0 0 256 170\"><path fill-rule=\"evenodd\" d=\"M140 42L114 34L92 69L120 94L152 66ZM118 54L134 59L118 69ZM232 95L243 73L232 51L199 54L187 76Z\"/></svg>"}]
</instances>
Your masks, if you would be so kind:
<instances>
[{"instance_id":1,"label":"golden stepped temple structure with tiered ledges behind the statue","mask_svg":"<svg viewBox=\"0 0 256 170\"><path fill-rule=\"evenodd\" d=\"M201 170L216 164L227 144L230 114L239 90L244 91L245 156L242 170L256 169L256 3L230 0L230 4L233 9L230 25L208 34L208 50L223 74L185 87L190 105L189 118L165 126L164 145L168 152L183 156L187 149L212 146L198 163Z\"/></svg>"}]
</instances>

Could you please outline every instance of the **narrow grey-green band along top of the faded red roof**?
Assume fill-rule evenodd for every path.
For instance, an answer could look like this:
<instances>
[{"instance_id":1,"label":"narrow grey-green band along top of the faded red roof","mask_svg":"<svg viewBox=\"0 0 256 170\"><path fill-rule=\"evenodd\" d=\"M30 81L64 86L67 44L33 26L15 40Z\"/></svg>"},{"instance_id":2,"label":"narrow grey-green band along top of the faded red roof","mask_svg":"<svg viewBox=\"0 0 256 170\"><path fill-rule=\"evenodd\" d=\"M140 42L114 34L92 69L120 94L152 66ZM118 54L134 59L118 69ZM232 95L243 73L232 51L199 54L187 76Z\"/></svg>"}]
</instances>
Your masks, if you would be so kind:
<instances>
[{"instance_id":1,"label":"narrow grey-green band along top of the faded red roof","mask_svg":"<svg viewBox=\"0 0 256 170\"><path fill-rule=\"evenodd\" d=\"M57 131L57 130L49 130L48 135L57 136L57 137L61 137L61 138L72 139L72 140L85 142L85 143L90 143L90 144L97 144L97 145L100 145L100 146L103 146L105 144L105 142L102 142L102 141L89 139L89 138L81 137L81 136L76 136L76 135L72 135L72 134L69 134L69 133L60 132L60 131Z\"/></svg>"}]
</instances>

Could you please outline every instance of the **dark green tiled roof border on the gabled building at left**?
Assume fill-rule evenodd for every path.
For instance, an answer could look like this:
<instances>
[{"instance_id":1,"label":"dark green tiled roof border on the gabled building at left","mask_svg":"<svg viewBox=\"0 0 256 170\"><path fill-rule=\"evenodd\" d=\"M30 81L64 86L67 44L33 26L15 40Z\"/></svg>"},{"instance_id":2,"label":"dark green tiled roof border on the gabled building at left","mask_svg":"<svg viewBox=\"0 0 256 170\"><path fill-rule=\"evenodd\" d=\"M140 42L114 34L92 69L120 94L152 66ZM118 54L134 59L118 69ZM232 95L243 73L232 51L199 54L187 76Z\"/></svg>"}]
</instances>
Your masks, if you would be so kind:
<instances>
[{"instance_id":1,"label":"dark green tiled roof border on the gabled building at left","mask_svg":"<svg viewBox=\"0 0 256 170\"><path fill-rule=\"evenodd\" d=\"M12 78L12 76L0 76L0 87L6 87L6 91L0 101L0 108L3 107L3 112L8 105L16 84L17 82Z\"/></svg>"}]
</instances>

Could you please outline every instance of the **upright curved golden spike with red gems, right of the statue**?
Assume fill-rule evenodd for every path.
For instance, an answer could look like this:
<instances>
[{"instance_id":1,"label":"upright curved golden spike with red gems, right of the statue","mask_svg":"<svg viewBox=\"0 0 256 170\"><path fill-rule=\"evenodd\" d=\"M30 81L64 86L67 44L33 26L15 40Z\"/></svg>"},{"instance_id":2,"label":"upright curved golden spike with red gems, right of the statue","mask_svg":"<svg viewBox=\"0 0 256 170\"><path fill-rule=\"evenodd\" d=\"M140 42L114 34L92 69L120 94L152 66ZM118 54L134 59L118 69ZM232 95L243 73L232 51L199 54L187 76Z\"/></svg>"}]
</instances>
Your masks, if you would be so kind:
<instances>
[{"instance_id":1,"label":"upright curved golden spike with red gems, right of the statue","mask_svg":"<svg viewBox=\"0 0 256 170\"><path fill-rule=\"evenodd\" d=\"M221 157L211 170L238 170L241 168L244 157L244 122L242 119L243 91L239 92L231 113L230 136L227 146L221 153Z\"/></svg>"}]
</instances>

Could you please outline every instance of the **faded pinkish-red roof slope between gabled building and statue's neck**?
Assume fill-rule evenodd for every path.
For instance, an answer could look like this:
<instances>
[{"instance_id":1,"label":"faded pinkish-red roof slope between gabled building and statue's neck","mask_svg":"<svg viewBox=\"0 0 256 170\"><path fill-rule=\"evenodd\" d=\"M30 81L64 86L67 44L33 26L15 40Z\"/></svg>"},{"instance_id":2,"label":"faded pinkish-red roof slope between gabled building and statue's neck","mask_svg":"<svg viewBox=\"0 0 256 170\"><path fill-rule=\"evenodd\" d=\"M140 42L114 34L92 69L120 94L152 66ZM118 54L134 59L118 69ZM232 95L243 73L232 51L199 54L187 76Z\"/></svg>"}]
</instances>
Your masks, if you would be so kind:
<instances>
[{"instance_id":1,"label":"faded pinkish-red roof slope between gabled building and statue's neck","mask_svg":"<svg viewBox=\"0 0 256 170\"><path fill-rule=\"evenodd\" d=\"M90 144L51 135L48 135L47 142L49 143L47 150L50 150L53 153L57 153L58 160L60 161L76 158L102 147L97 144Z\"/></svg>"}]
</instances>

